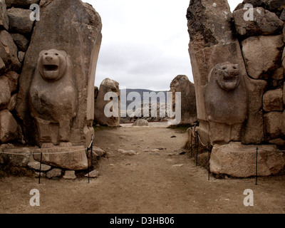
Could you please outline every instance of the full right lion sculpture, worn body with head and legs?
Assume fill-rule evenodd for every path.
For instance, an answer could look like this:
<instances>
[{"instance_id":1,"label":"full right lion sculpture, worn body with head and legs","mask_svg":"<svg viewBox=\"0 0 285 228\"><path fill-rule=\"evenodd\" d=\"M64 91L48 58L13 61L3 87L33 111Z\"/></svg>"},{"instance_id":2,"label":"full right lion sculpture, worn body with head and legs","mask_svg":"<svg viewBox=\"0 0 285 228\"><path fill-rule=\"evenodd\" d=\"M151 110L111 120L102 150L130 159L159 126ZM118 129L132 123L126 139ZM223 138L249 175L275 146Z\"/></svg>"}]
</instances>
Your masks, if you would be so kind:
<instances>
[{"instance_id":1,"label":"full right lion sculpture, worn body with head and legs","mask_svg":"<svg viewBox=\"0 0 285 228\"><path fill-rule=\"evenodd\" d=\"M212 137L219 138L219 141L239 140L248 110L247 88L239 65L229 62L217 64L209 73L204 98L210 128L221 129L212 133ZM217 132L224 132L227 139L226 136L219 137Z\"/></svg>"}]
</instances>

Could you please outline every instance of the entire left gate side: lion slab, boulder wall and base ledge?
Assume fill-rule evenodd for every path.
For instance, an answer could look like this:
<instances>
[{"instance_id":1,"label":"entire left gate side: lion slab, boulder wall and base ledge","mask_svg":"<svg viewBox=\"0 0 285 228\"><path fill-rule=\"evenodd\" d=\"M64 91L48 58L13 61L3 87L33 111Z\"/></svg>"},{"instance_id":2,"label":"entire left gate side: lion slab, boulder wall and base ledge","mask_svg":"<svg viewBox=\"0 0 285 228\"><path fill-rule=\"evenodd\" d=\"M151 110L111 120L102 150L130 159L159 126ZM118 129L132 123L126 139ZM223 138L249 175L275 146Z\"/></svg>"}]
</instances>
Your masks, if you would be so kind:
<instances>
[{"instance_id":1,"label":"entire left gate side: lion slab, boulder wall and base ledge","mask_svg":"<svg viewBox=\"0 0 285 228\"><path fill-rule=\"evenodd\" d=\"M87 169L101 29L81 0L0 1L1 165Z\"/></svg>"}]
</instances>

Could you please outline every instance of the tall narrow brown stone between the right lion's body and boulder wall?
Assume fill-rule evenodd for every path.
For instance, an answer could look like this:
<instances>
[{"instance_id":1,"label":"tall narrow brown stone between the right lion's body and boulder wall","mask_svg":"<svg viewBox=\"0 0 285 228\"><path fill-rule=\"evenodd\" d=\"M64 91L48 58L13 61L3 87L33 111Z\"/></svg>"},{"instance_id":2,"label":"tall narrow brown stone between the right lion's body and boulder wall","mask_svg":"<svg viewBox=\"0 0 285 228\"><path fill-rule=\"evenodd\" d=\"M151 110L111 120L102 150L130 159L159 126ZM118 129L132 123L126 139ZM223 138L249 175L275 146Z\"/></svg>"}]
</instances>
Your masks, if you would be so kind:
<instances>
[{"instance_id":1,"label":"tall narrow brown stone between the right lion's body and boulder wall","mask_svg":"<svg viewBox=\"0 0 285 228\"><path fill-rule=\"evenodd\" d=\"M264 80L249 77L245 81L248 95L247 121L242 129L242 143L245 145L261 144L264 140L263 95L267 88Z\"/></svg>"}]
</instances>

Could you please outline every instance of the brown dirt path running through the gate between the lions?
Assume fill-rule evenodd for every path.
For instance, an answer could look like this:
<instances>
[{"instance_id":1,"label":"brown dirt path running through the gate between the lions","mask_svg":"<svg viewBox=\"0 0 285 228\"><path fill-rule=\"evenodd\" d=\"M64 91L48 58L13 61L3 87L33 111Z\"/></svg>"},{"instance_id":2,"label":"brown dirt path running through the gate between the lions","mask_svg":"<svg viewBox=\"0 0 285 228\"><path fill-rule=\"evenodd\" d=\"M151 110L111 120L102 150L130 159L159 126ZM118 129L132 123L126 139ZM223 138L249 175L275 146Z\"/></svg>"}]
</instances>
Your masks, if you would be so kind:
<instances>
[{"instance_id":1,"label":"brown dirt path running through the gate between the lions","mask_svg":"<svg viewBox=\"0 0 285 228\"><path fill-rule=\"evenodd\" d=\"M285 213L285 177L261 177L259 185L254 179L208 181L207 170L188 155L170 156L182 151L186 138L165 127L100 130L95 144L108 156L100 160L98 179L0 180L0 213ZM164 150L152 152L157 148ZM32 189L41 194L40 207L29 204ZM247 189L254 191L254 207L244 206Z\"/></svg>"}]
</instances>

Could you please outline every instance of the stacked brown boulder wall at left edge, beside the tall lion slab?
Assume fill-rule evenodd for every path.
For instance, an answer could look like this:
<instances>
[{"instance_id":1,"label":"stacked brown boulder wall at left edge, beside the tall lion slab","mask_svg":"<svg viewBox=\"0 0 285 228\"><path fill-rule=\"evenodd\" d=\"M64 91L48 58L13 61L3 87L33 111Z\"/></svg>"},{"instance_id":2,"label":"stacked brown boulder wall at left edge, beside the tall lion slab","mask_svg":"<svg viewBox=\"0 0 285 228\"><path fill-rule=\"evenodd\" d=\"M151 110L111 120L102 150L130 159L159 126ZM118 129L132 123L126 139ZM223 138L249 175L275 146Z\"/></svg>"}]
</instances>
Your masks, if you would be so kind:
<instances>
[{"instance_id":1,"label":"stacked brown boulder wall at left edge, beside the tall lion slab","mask_svg":"<svg viewBox=\"0 0 285 228\"><path fill-rule=\"evenodd\" d=\"M0 1L0 144L21 140L21 121L16 115L19 76L31 40L33 1Z\"/></svg>"}]
</instances>

